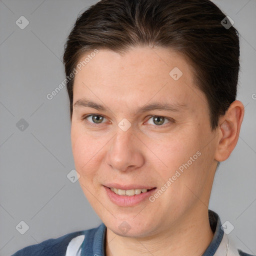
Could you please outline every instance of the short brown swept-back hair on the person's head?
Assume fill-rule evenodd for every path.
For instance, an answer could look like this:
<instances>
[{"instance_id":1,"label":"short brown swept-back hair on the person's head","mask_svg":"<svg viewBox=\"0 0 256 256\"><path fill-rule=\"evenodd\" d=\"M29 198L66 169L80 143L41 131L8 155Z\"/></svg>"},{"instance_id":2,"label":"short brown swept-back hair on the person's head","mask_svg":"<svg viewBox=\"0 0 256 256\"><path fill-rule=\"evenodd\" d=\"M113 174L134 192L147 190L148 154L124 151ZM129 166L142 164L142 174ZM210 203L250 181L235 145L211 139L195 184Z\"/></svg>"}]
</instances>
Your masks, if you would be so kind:
<instances>
[{"instance_id":1,"label":"short brown swept-back hair on the person's head","mask_svg":"<svg viewBox=\"0 0 256 256\"><path fill-rule=\"evenodd\" d=\"M175 50L187 58L196 86L206 95L213 130L235 100L239 72L239 34L221 24L225 16L210 0L101 0L79 15L68 36L65 73L95 48ZM66 87L71 118L73 78Z\"/></svg>"}]
</instances>

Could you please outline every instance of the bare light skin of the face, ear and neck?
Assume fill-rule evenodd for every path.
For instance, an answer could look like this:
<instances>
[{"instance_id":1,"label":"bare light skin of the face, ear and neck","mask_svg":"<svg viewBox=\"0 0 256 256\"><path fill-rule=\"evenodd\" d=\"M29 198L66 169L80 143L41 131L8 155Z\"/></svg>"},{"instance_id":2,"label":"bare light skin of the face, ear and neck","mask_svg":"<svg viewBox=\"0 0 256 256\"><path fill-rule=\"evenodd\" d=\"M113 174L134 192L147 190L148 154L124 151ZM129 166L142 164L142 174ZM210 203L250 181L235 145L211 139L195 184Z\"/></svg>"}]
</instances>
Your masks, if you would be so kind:
<instances>
[{"instance_id":1,"label":"bare light skin of the face, ear and neck","mask_svg":"<svg viewBox=\"0 0 256 256\"><path fill-rule=\"evenodd\" d=\"M81 58L83 59L83 58ZM182 71L174 80L173 67ZM74 105L81 98L106 111ZM152 102L184 104L178 111L135 111ZM104 117L99 123L86 114ZM135 47L122 55L101 49L75 75L71 143L81 188L107 226L106 255L201 255L213 233L208 202L217 161L239 135L244 110L235 100L211 131L207 100L187 60L164 48ZM163 116L157 125L152 116ZM131 126L123 131L118 123ZM89 124L92 124L90 126ZM201 154L157 198L133 206L111 202L102 184L143 184L160 189L197 151ZM126 221L124 233L118 226Z\"/></svg>"}]
</instances>

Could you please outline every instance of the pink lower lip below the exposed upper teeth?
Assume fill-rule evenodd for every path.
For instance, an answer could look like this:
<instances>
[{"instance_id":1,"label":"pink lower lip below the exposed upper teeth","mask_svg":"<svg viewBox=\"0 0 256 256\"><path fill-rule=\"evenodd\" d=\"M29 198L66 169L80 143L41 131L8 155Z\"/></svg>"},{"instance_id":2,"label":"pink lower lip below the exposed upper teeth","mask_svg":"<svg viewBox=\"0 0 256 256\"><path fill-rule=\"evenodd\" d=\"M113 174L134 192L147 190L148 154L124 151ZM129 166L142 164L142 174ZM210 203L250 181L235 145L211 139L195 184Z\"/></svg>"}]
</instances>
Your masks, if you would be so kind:
<instances>
[{"instance_id":1,"label":"pink lower lip below the exposed upper teeth","mask_svg":"<svg viewBox=\"0 0 256 256\"><path fill-rule=\"evenodd\" d=\"M111 202L119 206L132 206L140 203L144 199L148 198L156 188L148 190L144 193L134 195L119 195L113 192L110 188L103 186Z\"/></svg>"}]
</instances>

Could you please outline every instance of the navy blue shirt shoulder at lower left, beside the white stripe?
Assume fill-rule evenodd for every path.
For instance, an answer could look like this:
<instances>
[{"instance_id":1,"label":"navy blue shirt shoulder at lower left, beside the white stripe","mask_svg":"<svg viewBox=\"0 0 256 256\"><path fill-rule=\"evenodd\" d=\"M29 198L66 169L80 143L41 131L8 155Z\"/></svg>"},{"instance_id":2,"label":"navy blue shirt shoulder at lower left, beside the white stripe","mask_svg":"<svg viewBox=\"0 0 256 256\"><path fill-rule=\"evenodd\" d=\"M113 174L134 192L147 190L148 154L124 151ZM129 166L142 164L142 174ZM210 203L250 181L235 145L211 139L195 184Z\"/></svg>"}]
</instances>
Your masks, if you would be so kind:
<instances>
[{"instance_id":1,"label":"navy blue shirt shoulder at lower left, beside the white stripe","mask_svg":"<svg viewBox=\"0 0 256 256\"><path fill-rule=\"evenodd\" d=\"M53 256L53 255L64 256L66 253L66 248L68 246L68 243L74 237L82 234L93 236L93 234L96 232L97 229L98 227L95 227L87 230L68 233L57 238L50 238L38 244L26 246L16 251L11 256Z\"/></svg>"}]
</instances>

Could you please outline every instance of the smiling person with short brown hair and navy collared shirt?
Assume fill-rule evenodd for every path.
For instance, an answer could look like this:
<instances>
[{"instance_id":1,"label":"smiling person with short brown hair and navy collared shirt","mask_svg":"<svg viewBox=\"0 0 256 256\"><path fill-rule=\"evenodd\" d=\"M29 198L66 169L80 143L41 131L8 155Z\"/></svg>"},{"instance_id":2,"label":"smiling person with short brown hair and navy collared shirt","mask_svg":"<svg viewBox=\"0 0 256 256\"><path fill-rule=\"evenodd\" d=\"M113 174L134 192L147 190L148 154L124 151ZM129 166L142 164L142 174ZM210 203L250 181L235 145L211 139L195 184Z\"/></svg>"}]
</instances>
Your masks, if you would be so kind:
<instances>
[{"instance_id":1,"label":"smiling person with short brown hair and navy collared shirt","mask_svg":"<svg viewBox=\"0 0 256 256\"><path fill-rule=\"evenodd\" d=\"M102 223L20 255L249 255L208 209L238 140L239 37L210 0L101 0L65 44L79 183Z\"/></svg>"}]
</instances>

